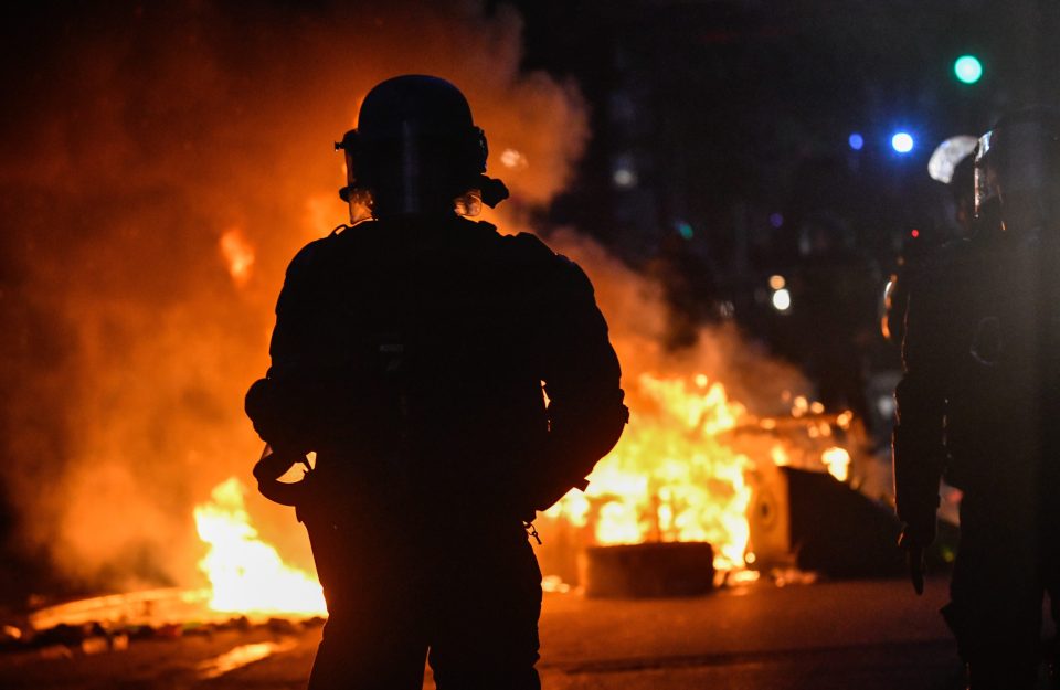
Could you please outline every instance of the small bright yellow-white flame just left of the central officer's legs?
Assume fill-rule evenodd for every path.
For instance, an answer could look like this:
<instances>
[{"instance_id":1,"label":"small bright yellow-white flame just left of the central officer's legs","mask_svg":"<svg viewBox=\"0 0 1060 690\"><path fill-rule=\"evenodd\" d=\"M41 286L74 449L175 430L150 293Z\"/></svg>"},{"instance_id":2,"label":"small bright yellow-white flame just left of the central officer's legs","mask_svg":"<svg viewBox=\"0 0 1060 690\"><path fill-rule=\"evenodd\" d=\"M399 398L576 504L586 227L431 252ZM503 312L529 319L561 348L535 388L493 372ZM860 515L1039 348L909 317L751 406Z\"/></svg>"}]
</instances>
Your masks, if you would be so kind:
<instances>
[{"instance_id":1,"label":"small bright yellow-white flame just left of the central officer's legs","mask_svg":"<svg viewBox=\"0 0 1060 690\"><path fill-rule=\"evenodd\" d=\"M199 537L210 552L199 562L213 587L214 611L267 614L326 614L317 578L285 564L261 541L243 505L245 488L235 477L218 485L195 507Z\"/></svg>"}]
</instances>

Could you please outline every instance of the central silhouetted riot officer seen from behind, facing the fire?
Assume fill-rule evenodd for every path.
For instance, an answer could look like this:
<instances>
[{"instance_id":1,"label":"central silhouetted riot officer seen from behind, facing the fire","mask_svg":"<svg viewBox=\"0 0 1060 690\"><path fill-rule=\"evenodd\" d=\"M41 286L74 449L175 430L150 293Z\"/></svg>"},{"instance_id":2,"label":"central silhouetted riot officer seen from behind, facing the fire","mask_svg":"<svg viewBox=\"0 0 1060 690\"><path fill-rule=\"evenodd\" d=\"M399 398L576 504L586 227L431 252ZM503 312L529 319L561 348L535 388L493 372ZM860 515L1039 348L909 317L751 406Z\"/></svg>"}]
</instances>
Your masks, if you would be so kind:
<instances>
[{"instance_id":1,"label":"central silhouetted riot officer seen from behind, facing the fire","mask_svg":"<svg viewBox=\"0 0 1060 690\"><path fill-rule=\"evenodd\" d=\"M507 190L448 82L379 84L337 146L353 224L292 262L246 400L328 602L310 688L418 690L428 649L442 690L539 688L526 528L622 433L606 323L574 263L464 217Z\"/></svg>"}]
</instances>

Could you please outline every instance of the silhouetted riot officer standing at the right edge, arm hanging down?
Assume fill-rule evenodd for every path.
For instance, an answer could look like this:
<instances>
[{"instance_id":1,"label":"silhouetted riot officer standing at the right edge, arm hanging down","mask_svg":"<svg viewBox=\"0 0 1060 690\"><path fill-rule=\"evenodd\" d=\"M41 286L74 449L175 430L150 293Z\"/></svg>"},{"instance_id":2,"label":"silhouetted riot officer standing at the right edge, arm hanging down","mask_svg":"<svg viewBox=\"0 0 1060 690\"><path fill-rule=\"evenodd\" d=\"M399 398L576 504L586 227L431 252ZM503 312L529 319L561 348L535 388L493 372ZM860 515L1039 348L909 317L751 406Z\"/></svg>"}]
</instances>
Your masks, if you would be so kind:
<instances>
[{"instance_id":1,"label":"silhouetted riot officer standing at the right edge, arm hanging down","mask_svg":"<svg viewBox=\"0 0 1060 690\"><path fill-rule=\"evenodd\" d=\"M1043 593L1060 614L1060 117L981 138L976 234L910 275L894 479L912 576L939 481L963 491L943 609L976 690L1034 687Z\"/></svg>"}]
</instances>

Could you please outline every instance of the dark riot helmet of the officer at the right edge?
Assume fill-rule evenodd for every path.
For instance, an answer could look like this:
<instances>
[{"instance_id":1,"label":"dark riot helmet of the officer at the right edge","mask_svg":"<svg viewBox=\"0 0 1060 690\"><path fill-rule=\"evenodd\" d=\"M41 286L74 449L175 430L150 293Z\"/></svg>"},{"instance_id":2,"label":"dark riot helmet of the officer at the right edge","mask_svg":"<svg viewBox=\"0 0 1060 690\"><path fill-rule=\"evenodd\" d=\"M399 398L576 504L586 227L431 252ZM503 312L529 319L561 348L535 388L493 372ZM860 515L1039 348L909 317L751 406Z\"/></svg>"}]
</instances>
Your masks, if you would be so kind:
<instances>
[{"instance_id":1,"label":"dark riot helmet of the officer at the right edge","mask_svg":"<svg viewBox=\"0 0 1060 690\"><path fill-rule=\"evenodd\" d=\"M1037 232L1060 222L1060 114L1019 110L979 137L975 213L1009 232Z\"/></svg>"}]
</instances>

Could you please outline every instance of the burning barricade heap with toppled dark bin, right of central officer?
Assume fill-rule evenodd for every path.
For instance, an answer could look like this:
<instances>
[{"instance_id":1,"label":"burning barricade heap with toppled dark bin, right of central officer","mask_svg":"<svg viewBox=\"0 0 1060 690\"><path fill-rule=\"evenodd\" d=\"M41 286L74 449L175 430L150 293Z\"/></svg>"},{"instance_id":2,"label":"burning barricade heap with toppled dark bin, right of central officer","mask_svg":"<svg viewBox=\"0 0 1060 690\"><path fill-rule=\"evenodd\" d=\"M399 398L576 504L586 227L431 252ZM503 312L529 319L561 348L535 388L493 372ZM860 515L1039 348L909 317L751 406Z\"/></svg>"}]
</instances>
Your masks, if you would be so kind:
<instances>
[{"instance_id":1,"label":"burning barricade heap with toppled dark bin, right of central officer","mask_svg":"<svg viewBox=\"0 0 1060 690\"><path fill-rule=\"evenodd\" d=\"M626 435L596 466L587 490L570 492L539 520L545 539L539 558L542 571L554 576L550 586L582 585L591 596L659 596L703 593L712 582L746 582L759 570L833 574L830 554L813 567L799 560L805 540L792 539L786 514L793 503L774 498L786 496L793 476L810 477L813 486L830 491L817 506L825 516L847 499L865 508L840 530L845 537L866 526L882 529L887 540L892 528L897 534L886 507L842 484L852 476L851 455L872 463L849 412L829 415L818 403L793 396L791 414L757 416L704 374L642 374L634 400L642 404L633 407ZM862 534L852 537L854 549L877 558L879 544L866 546ZM877 558L834 574L890 572L892 551L891 540L886 566Z\"/></svg>"}]
</instances>

